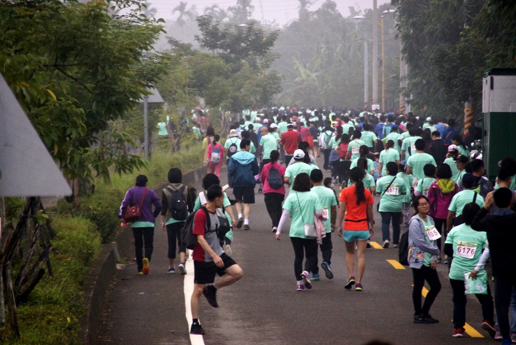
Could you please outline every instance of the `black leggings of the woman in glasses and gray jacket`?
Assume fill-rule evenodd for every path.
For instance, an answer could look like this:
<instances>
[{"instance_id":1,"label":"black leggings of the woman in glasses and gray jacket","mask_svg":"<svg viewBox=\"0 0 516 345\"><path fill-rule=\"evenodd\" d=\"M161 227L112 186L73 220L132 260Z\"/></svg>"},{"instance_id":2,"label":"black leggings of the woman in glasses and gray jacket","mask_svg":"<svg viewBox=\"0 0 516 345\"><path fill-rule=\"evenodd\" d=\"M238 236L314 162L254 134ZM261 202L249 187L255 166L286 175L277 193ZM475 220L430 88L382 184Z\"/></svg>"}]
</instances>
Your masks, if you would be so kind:
<instances>
[{"instance_id":1,"label":"black leggings of the woman in glasses and gray jacket","mask_svg":"<svg viewBox=\"0 0 516 345\"><path fill-rule=\"evenodd\" d=\"M428 255L428 254L427 254ZM437 275L437 270L432 270L428 266L421 266L420 269L412 269L414 278L414 288L412 289L412 302L414 303L414 315L428 315L433 301L436 300L437 294L441 291L441 282ZM425 285L425 280L430 285L430 291L425 297L425 303L421 308L421 292Z\"/></svg>"}]
</instances>

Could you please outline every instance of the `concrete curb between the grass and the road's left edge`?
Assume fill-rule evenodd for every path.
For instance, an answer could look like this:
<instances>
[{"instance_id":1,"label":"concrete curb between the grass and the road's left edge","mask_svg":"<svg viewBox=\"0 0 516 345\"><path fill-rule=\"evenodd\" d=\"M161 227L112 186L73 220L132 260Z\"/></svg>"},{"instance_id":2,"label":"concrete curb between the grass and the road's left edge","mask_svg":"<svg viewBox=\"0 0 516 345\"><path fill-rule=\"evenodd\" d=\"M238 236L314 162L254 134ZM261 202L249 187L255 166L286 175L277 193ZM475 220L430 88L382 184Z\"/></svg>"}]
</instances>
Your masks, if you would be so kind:
<instances>
[{"instance_id":1,"label":"concrete curb between the grass and the road's left edge","mask_svg":"<svg viewBox=\"0 0 516 345\"><path fill-rule=\"evenodd\" d=\"M195 185L206 174L206 168L200 167L183 174L183 183ZM160 191L168 182L156 185L153 190L160 195ZM80 332L78 340L85 345L98 343L98 326L101 318L102 305L106 297L107 287L117 271L117 262L131 254L133 247L133 233L131 227L122 228L114 242L104 244L96 257L88 276L83 284L85 314L79 318Z\"/></svg>"}]
</instances>

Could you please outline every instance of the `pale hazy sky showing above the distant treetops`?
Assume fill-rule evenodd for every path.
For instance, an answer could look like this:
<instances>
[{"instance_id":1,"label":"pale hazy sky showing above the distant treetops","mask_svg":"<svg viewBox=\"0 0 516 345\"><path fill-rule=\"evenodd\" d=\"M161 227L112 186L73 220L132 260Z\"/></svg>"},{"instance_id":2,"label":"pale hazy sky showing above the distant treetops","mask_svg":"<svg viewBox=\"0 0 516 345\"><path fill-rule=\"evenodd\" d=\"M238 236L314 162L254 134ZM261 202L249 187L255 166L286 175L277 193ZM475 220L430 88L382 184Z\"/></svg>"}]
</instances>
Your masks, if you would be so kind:
<instances>
[{"instance_id":1,"label":"pale hazy sky showing above the distant treetops","mask_svg":"<svg viewBox=\"0 0 516 345\"><path fill-rule=\"evenodd\" d=\"M197 11L202 13L204 8L212 4L217 4L219 7L226 9L236 4L236 0L183 0L188 3L188 8L191 5L196 5ZM367 9L373 7L373 0L333 0L337 4L338 11L346 17L349 15L349 6L354 6L356 9ZM172 10L178 6L181 0L148 0L158 10L157 18L174 19L177 14L173 15ZM266 21L276 20L280 26L287 22L298 18L298 0L252 0L254 6L253 18ZM320 7L325 0L314 0L314 5L309 9L315 10ZM390 0L378 0L378 6L390 3Z\"/></svg>"}]
</instances>

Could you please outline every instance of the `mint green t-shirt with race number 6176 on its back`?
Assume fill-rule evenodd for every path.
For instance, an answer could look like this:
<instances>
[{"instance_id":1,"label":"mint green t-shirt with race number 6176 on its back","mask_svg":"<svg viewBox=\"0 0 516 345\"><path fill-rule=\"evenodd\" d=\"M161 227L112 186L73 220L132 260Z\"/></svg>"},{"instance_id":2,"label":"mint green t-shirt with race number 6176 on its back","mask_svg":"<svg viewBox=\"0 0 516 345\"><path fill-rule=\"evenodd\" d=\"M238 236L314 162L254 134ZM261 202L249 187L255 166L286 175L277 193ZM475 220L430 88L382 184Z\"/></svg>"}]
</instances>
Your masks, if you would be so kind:
<instances>
[{"instance_id":1,"label":"mint green t-shirt with race number 6176 on its back","mask_svg":"<svg viewBox=\"0 0 516 345\"><path fill-rule=\"evenodd\" d=\"M475 231L469 225L461 224L451 229L444 242L453 244L454 254L449 273L450 279L464 280L464 272L471 272L475 269L482 255L482 249L487 247L486 241L487 233L485 231Z\"/></svg>"}]
</instances>

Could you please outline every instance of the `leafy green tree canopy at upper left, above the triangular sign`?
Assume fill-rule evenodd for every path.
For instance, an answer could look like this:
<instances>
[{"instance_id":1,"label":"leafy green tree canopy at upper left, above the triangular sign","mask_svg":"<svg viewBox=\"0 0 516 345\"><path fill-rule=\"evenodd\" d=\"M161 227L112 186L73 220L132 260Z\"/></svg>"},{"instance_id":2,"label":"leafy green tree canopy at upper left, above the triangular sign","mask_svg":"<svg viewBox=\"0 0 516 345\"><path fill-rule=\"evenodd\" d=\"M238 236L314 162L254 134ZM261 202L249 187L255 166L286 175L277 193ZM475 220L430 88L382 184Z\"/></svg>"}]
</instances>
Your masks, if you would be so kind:
<instances>
[{"instance_id":1,"label":"leafy green tree canopy at upper left, above the triangular sign","mask_svg":"<svg viewBox=\"0 0 516 345\"><path fill-rule=\"evenodd\" d=\"M134 107L168 63L168 54L149 53L162 27L139 14L143 4L117 0L110 15L99 0L0 2L0 72L71 179L144 164L125 152L106 154L100 143L109 121ZM110 134L109 148L131 144Z\"/></svg>"}]
</instances>

